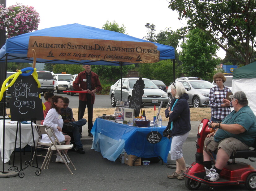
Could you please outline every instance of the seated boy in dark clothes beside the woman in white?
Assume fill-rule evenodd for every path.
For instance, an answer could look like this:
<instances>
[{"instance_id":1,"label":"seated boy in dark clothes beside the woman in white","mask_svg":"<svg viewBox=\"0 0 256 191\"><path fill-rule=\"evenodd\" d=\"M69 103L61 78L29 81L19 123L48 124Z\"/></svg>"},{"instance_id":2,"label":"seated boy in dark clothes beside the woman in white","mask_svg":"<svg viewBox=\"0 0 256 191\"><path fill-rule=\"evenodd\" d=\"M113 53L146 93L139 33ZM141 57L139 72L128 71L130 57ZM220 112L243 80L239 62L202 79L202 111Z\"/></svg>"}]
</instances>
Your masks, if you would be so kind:
<instances>
[{"instance_id":1,"label":"seated boy in dark clothes beside the woman in white","mask_svg":"<svg viewBox=\"0 0 256 191\"><path fill-rule=\"evenodd\" d=\"M86 119L80 119L78 121L75 121L73 118L72 109L68 107L68 104L69 104L69 99L67 97L64 97L64 106L60 111L61 112L60 115L62 116L62 119L64 122L62 127L62 132L64 133L72 132L75 140L77 152L80 154L84 154L85 151L83 149L83 145L80 140L81 137L80 137L79 128L80 126L85 125L87 121Z\"/></svg>"}]
</instances>

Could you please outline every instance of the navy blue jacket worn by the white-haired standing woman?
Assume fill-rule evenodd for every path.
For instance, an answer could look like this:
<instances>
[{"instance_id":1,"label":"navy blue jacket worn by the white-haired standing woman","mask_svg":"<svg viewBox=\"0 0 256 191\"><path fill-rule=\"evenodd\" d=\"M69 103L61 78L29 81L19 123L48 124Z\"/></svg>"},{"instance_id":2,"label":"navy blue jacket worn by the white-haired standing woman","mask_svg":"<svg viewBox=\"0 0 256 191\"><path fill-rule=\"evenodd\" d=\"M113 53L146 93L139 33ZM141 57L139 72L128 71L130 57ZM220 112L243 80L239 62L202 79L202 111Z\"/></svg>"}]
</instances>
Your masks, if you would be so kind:
<instances>
[{"instance_id":1,"label":"navy blue jacket worn by the white-haired standing woman","mask_svg":"<svg viewBox=\"0 0 256 191\"><path fill-rule=\"evenodd\" d=\"M173 121L171 136L183 135L191 130L188 99L189 95L184 93L180 96L170 115L168 108L165 110L166 118L169 117L167 128L171 128L171 121ZM176 98L171 101L171 108L175 101Z\"/></svg>"}]
</instances>

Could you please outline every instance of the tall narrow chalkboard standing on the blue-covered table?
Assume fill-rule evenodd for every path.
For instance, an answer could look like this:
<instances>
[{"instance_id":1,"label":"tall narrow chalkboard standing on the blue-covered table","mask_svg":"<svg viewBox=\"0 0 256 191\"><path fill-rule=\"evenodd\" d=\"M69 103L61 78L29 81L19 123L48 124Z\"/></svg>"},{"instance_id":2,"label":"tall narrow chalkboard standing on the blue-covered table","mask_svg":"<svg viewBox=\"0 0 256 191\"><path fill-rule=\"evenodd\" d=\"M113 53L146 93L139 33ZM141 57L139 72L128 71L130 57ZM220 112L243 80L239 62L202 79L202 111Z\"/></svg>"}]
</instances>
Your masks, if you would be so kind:
<instances>
[{"instance_id":1,"label":"tall narrow chalkboard standing on the blue-covered table","mask_svg":"<svg viewBox=\"0 0 256 191\"><path fill-rule=\"evenodd\" d=\"M135 113L134 113L135 117L140 116L142 95L144 94L144 87L145 87L145 84L142 78L139 78L133 86L132 98L130 100L129 108L132 108L135 110Z\"/></svg>"}]
</instances>

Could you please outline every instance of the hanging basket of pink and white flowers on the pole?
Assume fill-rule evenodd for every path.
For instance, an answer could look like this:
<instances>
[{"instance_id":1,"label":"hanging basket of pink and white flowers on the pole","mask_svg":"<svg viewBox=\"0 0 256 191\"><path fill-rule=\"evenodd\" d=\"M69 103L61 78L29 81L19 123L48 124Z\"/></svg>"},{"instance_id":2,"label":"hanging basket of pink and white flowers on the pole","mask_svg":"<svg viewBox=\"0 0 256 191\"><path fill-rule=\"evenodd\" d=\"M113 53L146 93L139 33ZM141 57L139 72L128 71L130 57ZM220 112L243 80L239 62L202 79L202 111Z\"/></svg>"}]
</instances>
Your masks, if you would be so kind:
<instances>
[{"instance_id":1,"label":"hanging basket of pink and white flowers on the pole","mask_svg":"<svg viewBox=\"0 0 256 191\"><path fill-rule=\"evenodd\" d=\"M7 37L37 30L40 16L32 6L20 3L6 8L0 4L0 30L6 27Z\"/></svg>"}]
</instances>

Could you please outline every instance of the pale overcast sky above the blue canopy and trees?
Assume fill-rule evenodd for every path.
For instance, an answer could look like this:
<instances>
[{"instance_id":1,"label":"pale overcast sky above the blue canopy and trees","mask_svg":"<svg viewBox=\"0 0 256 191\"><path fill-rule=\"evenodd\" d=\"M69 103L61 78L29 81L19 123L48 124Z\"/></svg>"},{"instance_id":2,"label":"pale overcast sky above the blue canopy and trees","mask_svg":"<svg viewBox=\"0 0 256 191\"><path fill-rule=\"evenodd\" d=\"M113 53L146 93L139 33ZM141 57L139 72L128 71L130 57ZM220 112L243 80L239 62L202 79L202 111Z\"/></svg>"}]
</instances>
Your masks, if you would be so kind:
<instances>
[{"instance_id":1,"label":"pale overcast sky above the blue canopy and trees","mask_svg":"<svg viewBox=\"0 0 256 191\"><path fill-rule=\"evenodd\" d=\"M39 30L72 23L102 28L107 20L115 20L119 26L124 24L128 35L142 39L146 23L155 25L156 34L186 25L168 8L167 0L6 0L7 7L16 2L35 7L40 14ZM224 51L218 56L224 58Z\"/></svg>"}]
</instances>

